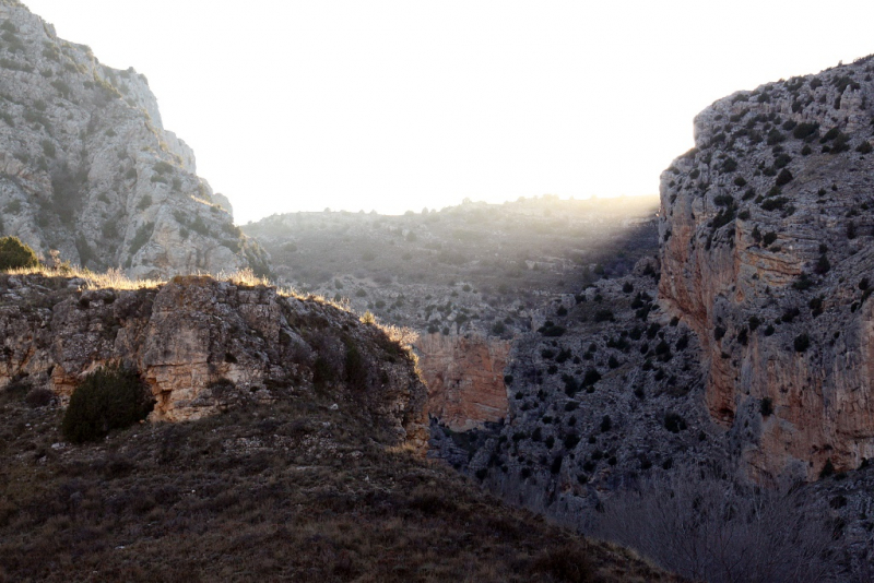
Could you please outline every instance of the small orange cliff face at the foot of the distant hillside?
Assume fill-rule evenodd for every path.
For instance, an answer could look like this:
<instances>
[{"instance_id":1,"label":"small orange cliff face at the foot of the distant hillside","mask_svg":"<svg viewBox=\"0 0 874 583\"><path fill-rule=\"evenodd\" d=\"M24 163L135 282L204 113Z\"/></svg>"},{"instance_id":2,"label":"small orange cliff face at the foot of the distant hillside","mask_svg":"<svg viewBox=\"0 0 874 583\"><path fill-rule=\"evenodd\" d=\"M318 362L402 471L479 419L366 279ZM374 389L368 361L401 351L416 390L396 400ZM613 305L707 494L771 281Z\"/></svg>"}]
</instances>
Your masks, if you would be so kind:
<instances>
[{"instance_id":1,"label":"small orange cliff face at the foot of the distant hillside","mask_svg":"<svg viewBox=\"0 0 874 583\"><path fill-rule=\"evenodd\" d=\"M422 377L428 386L428 414L456 431L507 417L504 369L511 343L471 334L426 334L416 342Z\"/></svg>"}]
</instances>

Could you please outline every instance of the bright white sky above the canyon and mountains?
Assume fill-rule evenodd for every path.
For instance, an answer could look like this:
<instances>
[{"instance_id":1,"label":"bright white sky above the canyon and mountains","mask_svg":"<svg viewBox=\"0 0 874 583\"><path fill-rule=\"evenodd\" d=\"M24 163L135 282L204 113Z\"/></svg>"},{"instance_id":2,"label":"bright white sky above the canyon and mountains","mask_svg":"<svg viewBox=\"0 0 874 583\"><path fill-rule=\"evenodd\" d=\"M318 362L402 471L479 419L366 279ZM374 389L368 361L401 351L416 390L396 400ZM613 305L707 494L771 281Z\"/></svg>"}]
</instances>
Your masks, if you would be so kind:
<instances>
[{"instance_id":1,"label":"bright white sky above the canyon and mountains","mask_svg":"<svg viewBox=\"0 0 874 583\"><path fill-rule=\"evenodd\" d=\"M874 52L871 0L23 0L144 73L237 223L651 194L713 100Z\"/></svg>"}]
</instances>

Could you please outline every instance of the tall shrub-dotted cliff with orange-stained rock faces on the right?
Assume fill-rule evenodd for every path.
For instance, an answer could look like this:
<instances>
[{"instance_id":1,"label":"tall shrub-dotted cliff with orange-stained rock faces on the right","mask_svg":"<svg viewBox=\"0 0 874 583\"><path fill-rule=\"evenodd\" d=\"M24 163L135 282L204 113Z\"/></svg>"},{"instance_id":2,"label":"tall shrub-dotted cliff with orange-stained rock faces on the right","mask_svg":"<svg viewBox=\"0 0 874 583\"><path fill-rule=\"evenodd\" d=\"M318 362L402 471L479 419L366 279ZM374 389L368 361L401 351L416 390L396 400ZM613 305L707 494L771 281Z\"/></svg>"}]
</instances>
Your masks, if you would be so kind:
<instances>
[{"instance_id":1,"label":"tall shrub-dotted cliff with orange-stained rock faces on the right","mask_svg":"<svg viewBox=\"0 0 874 583\"><path fill-rule=\"evenodd\" d=\"M753 475L874 456L871 58L740 92L661 178L660 296Z\"/></svg>"}]
</instances>

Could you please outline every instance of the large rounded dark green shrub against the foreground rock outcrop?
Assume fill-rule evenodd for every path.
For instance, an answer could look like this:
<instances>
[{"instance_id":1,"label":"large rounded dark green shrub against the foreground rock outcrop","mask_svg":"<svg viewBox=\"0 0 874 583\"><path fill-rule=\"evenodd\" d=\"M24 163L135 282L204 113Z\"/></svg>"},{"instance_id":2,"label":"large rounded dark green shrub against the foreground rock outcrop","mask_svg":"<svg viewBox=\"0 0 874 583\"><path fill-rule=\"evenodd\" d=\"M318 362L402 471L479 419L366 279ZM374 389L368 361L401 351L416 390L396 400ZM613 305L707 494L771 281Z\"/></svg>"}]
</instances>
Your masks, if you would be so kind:
<instances>
[{"instance_id":1,"label":"large rounded dark green shrub against the foreground rock outcrop","mask_svg":"<svg viewBox=\"0 0 874 583\"><path fill-rule=\"evenodd\" d=\"M73 443L95 441L145 419L153 406L152 394L135 370L109 365L75 388L61 432Z\"/></svg>"}]
</instances>

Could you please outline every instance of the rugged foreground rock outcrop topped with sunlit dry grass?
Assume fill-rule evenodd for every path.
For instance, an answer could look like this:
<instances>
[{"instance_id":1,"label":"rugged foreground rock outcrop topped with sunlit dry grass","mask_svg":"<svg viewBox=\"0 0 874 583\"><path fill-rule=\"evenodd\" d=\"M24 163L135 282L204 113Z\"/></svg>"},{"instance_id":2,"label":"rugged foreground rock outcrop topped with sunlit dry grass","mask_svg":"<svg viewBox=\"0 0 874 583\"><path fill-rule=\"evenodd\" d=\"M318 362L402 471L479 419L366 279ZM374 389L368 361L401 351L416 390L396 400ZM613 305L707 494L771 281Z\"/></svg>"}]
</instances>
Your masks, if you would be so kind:
<instances>
[{"instance_id":1,"label":"rugged foreground rock outcrop topped with sunlit dry grass","mask_svg":"<svg viewBox=\"0 0 874 583\"><path fill-rule=\"evenodd\" d=\"M210 277L139 290L83 284L0 274L0 386L27 382L64 401L90 371L120 360L151 386L153 420L315 390L369 415L389 442L425 444L426 392L413 362L350 312Z\"/></svg>"}]
</instances>

